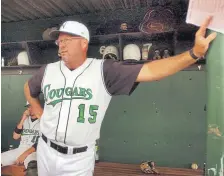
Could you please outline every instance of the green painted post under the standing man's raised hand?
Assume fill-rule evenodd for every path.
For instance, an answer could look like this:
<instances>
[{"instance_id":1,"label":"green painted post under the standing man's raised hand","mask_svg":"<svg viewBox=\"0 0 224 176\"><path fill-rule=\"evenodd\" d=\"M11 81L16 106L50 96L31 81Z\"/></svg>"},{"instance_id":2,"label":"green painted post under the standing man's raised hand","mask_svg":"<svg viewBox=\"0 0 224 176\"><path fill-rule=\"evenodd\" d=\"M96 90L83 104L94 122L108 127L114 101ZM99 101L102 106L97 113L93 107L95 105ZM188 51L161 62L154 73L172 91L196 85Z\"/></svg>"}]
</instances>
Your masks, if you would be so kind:
<instances>
[{"instance_id":1,"label":"green painted post under the standing man's raised hand","mask_svg":"<svg viewBox=\"0 0 224 176\"><path fill-rule=\"evenodd\" d=\"M224 35L220 33L213 41L207 55L207 88L207 161L205 175L223 176Z\"/></svg>"}]
</instances>

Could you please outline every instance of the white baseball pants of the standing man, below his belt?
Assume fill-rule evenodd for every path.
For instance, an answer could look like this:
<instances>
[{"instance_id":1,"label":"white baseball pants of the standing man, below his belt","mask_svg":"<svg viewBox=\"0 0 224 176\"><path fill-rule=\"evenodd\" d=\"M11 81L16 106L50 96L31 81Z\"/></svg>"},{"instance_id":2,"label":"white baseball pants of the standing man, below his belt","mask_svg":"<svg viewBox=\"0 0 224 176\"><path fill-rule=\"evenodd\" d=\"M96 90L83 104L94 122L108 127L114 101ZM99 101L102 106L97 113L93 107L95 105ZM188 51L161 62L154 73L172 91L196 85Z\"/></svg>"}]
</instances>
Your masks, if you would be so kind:
<instances>
[{"instance_id":1,"label":"white baseball pants of the standing man, below his belt","mask_svg":"<svg viewBox=\"0 0 224 176\"><path fill-rule=\"evenodd\" d=\"M76 154L62 154L51 148L41 137L37 146L38 175L92 176L95 157L94 146Z\"/></svg>"}]
</instances>

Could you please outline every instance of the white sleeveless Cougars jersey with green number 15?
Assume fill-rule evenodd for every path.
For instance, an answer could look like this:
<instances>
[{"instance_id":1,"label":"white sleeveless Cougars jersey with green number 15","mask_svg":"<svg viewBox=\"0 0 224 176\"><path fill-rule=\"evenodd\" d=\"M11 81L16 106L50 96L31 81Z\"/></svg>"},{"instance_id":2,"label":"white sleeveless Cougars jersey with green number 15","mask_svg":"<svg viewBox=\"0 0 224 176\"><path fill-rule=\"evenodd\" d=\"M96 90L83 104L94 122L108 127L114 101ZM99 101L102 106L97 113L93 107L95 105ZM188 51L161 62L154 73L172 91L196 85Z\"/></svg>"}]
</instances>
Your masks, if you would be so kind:
<instances>
[{"instance_id":1,"label":"white sleeveless Cougars jersey with green number 15","mask_svg":"<svg viewBox=\"0 0 224 176\"><path fill-rule=\"evenodd\" d=\"M111 100L104 85L103 60L88 58L73 71L63 61L48 64L41 89L45 98L41 132L66 145L95 143Z\"/></svg>"}]
</instances>

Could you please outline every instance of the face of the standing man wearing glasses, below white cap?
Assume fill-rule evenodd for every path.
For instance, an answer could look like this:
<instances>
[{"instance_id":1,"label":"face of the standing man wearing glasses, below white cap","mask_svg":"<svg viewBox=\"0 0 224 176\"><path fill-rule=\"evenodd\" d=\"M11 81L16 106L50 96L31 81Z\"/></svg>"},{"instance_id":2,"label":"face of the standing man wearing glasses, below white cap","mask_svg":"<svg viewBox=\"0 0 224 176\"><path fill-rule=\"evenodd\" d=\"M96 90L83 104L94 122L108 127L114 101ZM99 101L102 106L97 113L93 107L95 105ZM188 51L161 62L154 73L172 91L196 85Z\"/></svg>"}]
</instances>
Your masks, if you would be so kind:
<instances>
[{"instance_id":1,"label":"face of the standing man wearing glasses, below white cap","mask_svg":"<svg viewBox=\"0 0 224 176\"><path fill-rule=\"evenodd\" d=\"M79 36L61 33L56 41L59 47L58 53L66 65L81 58L86 52L88 42Z\"/></svg>"}]
</instances>

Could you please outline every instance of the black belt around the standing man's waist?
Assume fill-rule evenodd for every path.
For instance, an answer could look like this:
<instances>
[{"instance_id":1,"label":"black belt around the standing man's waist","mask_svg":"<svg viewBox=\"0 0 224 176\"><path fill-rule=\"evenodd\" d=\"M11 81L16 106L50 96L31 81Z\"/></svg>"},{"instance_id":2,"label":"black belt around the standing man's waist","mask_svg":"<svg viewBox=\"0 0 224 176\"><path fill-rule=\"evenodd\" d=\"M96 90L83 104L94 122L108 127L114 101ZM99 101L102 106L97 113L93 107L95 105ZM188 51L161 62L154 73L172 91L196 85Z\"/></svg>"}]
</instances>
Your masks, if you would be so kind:
<instances>
[{"instance_id":1,"label":"black belt around the standing man's waist","mask_svg":"<svg viewBox=\"0 0 224 176\"><path fill-rule=\"evenodd\" d=\"M81 148L68 148L68 147L63 147L60 146L58 144L55 144L54 142L50 141L49 139L47 139L46 136L44 136L42 134L42 139L48 144L48 141L50 142L50 147L52 147L53 149L57 150L60 153L63 154L76 154L76 153L81 153L81 152L85 152L87 150L87 146L85 147L81 147ZM69 150L70 149L70 150Z\"/></svg>"}]
</instances>

